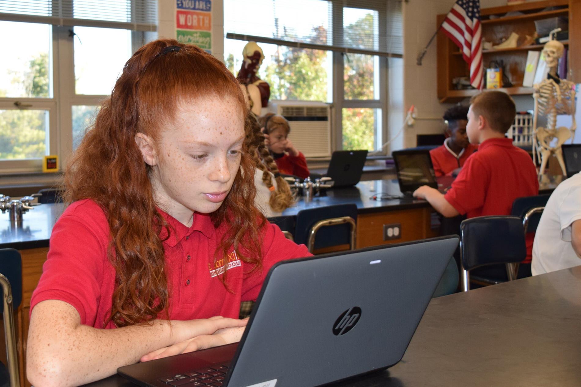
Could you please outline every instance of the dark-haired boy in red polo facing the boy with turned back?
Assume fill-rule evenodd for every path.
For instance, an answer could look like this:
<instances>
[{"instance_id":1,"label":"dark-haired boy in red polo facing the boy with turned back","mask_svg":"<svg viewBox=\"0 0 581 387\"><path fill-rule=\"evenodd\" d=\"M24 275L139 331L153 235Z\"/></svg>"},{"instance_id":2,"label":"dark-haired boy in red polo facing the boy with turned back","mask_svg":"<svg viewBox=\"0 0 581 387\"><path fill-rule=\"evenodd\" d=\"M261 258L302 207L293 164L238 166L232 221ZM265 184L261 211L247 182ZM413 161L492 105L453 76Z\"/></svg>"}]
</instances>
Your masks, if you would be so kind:
<instances>
[{"instance_id":1,"label":"dark-haired boy in red polo facing the boy with turned back","mask_svg":"<svg viewBox=\"0 0 581 387\"><path fill-rule=\"evenodd\" d=\"M444 144L430 150L430 157L436 176L456 174L464 166L468 156L478 150L478 145L470 144L466 134L468 106L456 105L444 113L446 140Z\"/></svg>"}]
</instances>

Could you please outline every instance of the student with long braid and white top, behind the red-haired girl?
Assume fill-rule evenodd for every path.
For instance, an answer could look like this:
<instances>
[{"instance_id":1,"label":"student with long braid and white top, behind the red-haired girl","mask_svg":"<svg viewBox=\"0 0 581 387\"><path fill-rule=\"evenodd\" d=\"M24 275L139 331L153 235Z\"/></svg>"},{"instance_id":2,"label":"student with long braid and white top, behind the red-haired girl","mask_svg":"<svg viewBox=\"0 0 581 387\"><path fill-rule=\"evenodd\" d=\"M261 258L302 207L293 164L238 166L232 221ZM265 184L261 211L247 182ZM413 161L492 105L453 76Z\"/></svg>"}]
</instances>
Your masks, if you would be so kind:
<instances>
[{"instance_id":1,"label":"student with long braid and white top, behind the red-haired girl","mask_svg":"<svg viewBox=\"0 0 581 387\"><path fill-rule=\"evenodd\" d=\"M260 131L260 124L254 113L249 112L248 124L253 135L251 144L254 148L254 185L256 185L256 198L254 205L260 209L264 216L279 216L293 203L293 196L288 183L278 171L265 142L264 134Z\"/></svg>"}]
</instances>

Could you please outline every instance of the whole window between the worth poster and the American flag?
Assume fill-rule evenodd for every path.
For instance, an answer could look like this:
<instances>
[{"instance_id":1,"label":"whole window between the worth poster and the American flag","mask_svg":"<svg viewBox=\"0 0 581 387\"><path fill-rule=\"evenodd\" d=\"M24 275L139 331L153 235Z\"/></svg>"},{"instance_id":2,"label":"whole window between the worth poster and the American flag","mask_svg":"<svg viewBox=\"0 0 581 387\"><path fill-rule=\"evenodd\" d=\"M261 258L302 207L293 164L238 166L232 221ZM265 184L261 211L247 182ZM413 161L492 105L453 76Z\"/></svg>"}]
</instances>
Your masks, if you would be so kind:
<instances>
[{"instance_id":1,"label":"whole window between the worth poster and the American flag","mask_svg":"<svg viewBox=\"0 0 581 387\"><path fill-rule=\"evenodd\" d=\"M252 17L246 15L252 9ZM397 0L224 0L225 60L237 74L242 48L259 43L259 77L272 99L332 102L332 149L385 154L389 56L401 58Z\"/></svg>"}]
</instances>

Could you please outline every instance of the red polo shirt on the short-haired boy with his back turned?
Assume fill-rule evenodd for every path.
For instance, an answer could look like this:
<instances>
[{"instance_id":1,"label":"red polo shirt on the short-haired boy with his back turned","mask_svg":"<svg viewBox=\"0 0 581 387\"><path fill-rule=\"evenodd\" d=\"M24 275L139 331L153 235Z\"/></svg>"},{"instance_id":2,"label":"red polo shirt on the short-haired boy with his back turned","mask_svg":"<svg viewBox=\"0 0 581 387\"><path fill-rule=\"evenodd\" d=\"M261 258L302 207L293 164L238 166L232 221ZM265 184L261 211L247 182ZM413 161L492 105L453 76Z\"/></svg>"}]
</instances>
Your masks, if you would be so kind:
<instances>
[{"instance_id":1,"label":"red polo shirt on the short-haired boy with his back turned","mask_svg":"<svg viewBox=\"0 0 581 387\"><path fill-rule=\"evenodd\" d=\"M510 215L512 202L539 195L537 170L529 154L512 145L511 138L491 138L480 144L464 164L444 198L468 218ZM534 234L526 236L530 262Z\"/></svg>"}]
</instances>

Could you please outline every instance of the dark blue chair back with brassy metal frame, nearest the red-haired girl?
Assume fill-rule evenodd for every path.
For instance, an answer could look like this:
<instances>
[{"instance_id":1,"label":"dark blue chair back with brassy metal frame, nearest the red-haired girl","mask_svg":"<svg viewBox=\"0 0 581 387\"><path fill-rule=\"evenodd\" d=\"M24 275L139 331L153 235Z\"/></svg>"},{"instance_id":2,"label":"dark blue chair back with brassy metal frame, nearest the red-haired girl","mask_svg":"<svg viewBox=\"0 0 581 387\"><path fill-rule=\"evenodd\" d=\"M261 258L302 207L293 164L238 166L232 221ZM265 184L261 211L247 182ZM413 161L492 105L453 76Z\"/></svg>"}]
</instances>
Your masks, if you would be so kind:
<instances>
[{"instance_id":1,"label":"dark blue chair back with brassy metal frame, nearest the red-haired girl","mask_svg":"<svg viewBox=\"0 0 581 387\"><path fill-rule=\"evenodd\" d=\"M296 215L295 242L303 243L311 253L349 243L355 249L357 206L353 203L314 207Z\"/></svg>"}]
</instances>

